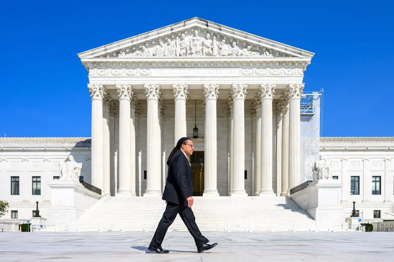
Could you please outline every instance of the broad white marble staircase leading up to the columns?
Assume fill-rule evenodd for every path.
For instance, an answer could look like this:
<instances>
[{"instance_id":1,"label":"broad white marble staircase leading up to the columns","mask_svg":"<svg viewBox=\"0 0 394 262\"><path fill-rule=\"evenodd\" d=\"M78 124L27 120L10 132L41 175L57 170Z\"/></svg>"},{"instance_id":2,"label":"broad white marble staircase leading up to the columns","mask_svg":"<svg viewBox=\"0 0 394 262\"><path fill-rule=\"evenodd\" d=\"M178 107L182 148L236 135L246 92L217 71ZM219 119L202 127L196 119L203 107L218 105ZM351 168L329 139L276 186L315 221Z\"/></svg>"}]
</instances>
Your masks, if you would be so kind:
<instances>
[{"instance_id":1,"label":"broad white marble staircase leading up to the columns","mask_svg":"<svg viewBox=\"0 0 394 262\"><path fill-rule=\"evenodd\" d=\"M286 197L194 197L193 211L202 232L209 231L315 231L332 230L318 225ZM56 231L154 232L165 203L151 197L104 197L70 225ZM169 231L187 231L179 215Z\"/></svg>"}]
</instances>

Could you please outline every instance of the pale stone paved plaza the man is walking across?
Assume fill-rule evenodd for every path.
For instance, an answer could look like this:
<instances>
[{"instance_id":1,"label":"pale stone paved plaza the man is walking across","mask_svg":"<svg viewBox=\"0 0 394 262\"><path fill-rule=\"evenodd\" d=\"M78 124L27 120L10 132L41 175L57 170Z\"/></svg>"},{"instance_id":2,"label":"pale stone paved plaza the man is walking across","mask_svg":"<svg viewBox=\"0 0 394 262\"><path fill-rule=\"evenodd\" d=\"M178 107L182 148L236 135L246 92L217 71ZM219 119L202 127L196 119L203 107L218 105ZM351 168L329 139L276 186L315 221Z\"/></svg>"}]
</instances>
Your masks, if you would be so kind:
<instances>
[{"instance_id":1,"label":"pale stone paved plaza the man is walking across","mask_svg":"<svg viewBox=\"0 0 394 262\"><path fill-rule=\"evenodd\" d=\"M218 246L197 253L187 232L167 233L168 254L148 251L152 233L0 233L1 262L393 262L394 233L204 233Z\"/></svg>"}]
</instances>

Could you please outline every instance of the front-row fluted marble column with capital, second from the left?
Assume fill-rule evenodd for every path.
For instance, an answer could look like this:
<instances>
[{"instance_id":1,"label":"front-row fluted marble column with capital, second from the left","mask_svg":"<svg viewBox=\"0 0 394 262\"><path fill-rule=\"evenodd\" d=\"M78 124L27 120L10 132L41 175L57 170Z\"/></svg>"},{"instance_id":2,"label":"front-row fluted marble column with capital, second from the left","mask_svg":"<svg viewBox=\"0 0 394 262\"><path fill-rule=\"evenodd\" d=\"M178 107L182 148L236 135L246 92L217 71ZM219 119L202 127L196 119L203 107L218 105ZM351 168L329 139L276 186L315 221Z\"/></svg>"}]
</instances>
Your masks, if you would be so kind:
<instances>
[{"instance_id":1,"label":"front-row fluted marble column with capital, second from the left","mask_svg":"<svg viewBox=\"0 0 394 262\"><path fill-rule=\"evenodd\" d=\"M130 101L131 85L116 84L119 97L119 189L118 194L131 195L131 136L130 136Z\"/></svg>"}]
</instances>

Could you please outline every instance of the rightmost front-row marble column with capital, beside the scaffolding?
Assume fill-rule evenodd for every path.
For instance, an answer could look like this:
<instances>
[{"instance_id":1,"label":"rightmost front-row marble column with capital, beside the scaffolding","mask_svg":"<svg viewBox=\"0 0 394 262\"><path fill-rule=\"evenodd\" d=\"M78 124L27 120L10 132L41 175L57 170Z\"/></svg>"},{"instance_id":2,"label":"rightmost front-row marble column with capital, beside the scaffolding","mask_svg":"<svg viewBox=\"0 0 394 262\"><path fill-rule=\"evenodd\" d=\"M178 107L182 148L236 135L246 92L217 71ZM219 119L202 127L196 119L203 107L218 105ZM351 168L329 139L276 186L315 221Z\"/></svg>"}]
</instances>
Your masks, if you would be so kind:
<instances>
[{"instance_id":1,"label":"rightmost front-row marble column with capital, beside the scaffolding","mask_svg":"<svg viewBox=\"0 0 394 262\"><path fill-rule=\"evenodd\" d=\"M300 97L303 84L290 84L289 92L289 189L299 185L301 168Z\"/></svg>"}]
</instances>

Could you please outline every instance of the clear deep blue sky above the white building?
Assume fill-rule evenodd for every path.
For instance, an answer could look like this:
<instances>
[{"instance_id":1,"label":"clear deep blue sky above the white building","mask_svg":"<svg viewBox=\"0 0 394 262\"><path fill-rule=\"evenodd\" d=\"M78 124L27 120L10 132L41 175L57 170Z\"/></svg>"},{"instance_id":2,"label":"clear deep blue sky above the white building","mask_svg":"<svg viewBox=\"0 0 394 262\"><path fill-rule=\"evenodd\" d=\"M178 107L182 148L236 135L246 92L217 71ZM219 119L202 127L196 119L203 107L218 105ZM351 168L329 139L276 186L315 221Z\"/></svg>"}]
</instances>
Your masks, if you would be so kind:
<instances>
[{"instance_id":1,"label":"clear deep blue sky above the white building","mask_svg":"<svg viewBox=\"0 0 394 262\"><path fill-rule=\"evenodd\" d=\"M3 1L0 136L91 135L78 53L200 17L315 53L323 136L394 136L390 1Z\"/></svg>"}]
</instances>

